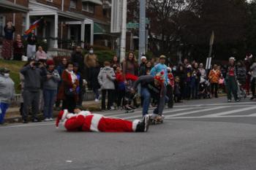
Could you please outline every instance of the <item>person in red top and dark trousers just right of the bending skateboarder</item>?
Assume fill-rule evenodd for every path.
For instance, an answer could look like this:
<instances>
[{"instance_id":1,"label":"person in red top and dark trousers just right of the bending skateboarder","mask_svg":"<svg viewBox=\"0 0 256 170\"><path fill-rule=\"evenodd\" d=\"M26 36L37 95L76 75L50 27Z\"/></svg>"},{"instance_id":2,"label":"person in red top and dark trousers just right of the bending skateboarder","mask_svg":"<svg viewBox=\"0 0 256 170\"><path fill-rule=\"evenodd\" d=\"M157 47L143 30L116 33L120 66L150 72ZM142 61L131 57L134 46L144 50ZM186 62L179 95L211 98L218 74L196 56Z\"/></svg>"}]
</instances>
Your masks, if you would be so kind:
<instances>
[{"instance_id":1,"label":"person in red top and dark trousers just right of the bending skateboarder","mask_svg":"<svg viewBox=\"0 0 256 170\"><path fill-rule=\"evenodd\" d=\"M169 84L167 85L167 93L166 96L168 97L168 108L173 108L173 89L174 89L174 77L172 73L172 69L167 67L167 77L169 79Z\"/></svg>"}]
</instances>

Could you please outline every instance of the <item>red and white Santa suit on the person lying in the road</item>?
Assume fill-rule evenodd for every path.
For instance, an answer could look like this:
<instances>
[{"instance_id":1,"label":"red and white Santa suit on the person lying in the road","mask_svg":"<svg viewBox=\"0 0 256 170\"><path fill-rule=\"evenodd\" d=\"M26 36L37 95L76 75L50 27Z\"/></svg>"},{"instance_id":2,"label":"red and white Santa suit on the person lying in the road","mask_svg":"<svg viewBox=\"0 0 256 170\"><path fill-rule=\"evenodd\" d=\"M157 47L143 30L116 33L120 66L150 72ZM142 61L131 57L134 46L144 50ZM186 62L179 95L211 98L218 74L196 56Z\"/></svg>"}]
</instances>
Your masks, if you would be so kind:
<instances>
[{"instance_id":1,"label":"red and white Santa suit on the person lying in the road","mask_svg":"<svg viewBox=\"0 0 256 170\"><path fill-rule=\"evenodd\" d=\"M64 114L61 117L67 131L133 132L140 120L122 120L81 111L78 114ZM58 126L58 125L57 125Z\"/></svg>"}]
</instances>

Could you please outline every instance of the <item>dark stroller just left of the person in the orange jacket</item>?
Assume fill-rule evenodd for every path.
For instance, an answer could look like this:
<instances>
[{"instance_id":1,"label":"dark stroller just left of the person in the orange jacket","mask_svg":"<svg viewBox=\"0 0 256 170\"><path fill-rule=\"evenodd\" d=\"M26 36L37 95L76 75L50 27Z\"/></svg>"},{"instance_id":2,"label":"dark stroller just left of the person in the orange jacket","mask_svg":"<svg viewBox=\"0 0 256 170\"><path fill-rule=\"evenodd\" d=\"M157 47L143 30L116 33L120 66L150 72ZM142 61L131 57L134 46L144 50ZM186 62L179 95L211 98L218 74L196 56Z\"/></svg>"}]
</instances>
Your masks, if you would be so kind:
<instances>
[{"instance_id":1,"label":"dark stroller just left of the person in the orange jacket","mask_svg":"<svg viewBox=\"0 0 256 170\"><path fill-rule=\"evenodd\" d=\"M198 98L211 98L210 93L211 83L208 80L205 80L203 77L200 77L199 89L198 89Z\"/></svg>"}]
</instances>

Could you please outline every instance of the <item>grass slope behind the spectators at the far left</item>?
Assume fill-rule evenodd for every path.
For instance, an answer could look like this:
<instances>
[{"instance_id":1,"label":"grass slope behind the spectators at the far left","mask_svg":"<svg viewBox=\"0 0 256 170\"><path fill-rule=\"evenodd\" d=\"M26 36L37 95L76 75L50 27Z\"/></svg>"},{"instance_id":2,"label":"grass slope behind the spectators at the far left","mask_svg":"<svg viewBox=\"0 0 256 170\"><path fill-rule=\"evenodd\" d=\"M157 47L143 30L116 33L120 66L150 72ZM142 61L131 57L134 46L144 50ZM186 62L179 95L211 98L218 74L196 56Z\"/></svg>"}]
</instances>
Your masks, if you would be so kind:
<instances>
[{"instance_id":1,"label":"grass slope behind the spectators at the far left","mask_svg":"<svg viewBox=\"0 0 256 170\"><path fill-rule=\"evenodd\" d=\"M23 61L6 61L3 59L0 59L0 67L6 67L7 69L10 69L10 71L11 71L10 77L15 82L15 92L16 93L20 93L20 90L18 90L18 85L20 84L19 72L25 63L26 62L23 62Z\"/></svg>"}]
</instances>

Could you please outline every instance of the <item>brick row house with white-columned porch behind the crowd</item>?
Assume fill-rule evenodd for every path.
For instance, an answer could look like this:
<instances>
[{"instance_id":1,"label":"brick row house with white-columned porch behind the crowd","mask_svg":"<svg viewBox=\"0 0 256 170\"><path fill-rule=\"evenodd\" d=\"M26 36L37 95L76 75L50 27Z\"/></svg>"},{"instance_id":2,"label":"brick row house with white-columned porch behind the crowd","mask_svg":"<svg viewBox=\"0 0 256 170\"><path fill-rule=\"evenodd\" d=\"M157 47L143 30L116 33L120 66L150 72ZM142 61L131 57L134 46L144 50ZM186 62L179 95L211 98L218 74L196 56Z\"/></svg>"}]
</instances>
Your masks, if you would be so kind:
<instances>
[{"instance_id":1,"label":"brick row house with white-columned porch behind the crowd","mask_svg":"<svg viewBox=\"0 0 256 170\"><path fill-rule=\"evenodd\" d=\"M116 37L110 34L110 5L110 0L1 0L0 37L8 20L14 23L15 34L23 34L42 18L35 32L50 49L72 49L73 45L113 48Z\"/></svg>"}]
</instances>

